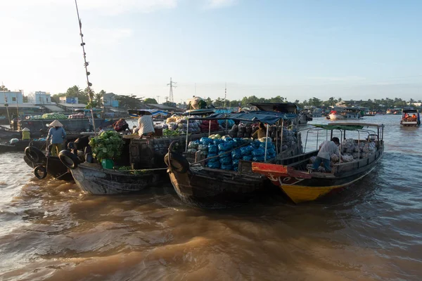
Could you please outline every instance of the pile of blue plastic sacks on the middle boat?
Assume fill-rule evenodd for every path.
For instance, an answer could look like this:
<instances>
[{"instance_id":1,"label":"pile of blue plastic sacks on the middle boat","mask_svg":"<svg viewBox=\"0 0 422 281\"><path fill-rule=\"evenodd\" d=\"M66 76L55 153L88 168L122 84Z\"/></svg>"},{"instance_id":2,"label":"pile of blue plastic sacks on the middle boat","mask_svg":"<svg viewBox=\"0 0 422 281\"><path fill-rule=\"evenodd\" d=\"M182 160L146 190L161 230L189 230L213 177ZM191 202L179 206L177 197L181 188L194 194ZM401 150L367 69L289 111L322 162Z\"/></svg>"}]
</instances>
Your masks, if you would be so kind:
<instances>
[{"instance_id":1,"label":"pile of blue plastic sacks on the middle boat","mask_svg":"<svg viewBox=\"0 0 422 281\"><path fill-rule=\"evenodd\" d=\"M239 160L264 162L265 141L268 141L267 160L273 159L276 157L276 148L271 138L252 141L251 138L231 138L230 136L220 138L218 135L213 135L209 138L200 138L199 141L191 141L188 143L187 152L200 152L204 157L213 157L206 162L210 168L238 171Z\"/></svg>"}]
</instances>

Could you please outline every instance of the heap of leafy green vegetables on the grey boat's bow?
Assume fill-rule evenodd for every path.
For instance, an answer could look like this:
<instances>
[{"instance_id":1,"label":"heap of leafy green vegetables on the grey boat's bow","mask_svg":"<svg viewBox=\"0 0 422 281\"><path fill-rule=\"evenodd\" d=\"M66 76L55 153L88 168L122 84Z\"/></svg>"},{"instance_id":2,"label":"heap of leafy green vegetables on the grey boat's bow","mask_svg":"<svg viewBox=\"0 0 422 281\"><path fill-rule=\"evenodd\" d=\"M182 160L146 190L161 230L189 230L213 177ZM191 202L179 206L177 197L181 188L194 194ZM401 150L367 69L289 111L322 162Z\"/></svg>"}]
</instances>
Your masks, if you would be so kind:
<instances>
[{"instance_id":1,"label":"heap of leafy green vegetables on the grey boat's bow","mask_svg":"<svg viewBox=\"0 0 422 281\"><path fill-rule=\"evenodd\" d=\"M101 162L103 159L116 159L122 154L123 140L117 131L103 131L99 136L91 138L89 145L92 155Z\"/></svg>"}]
</instances>

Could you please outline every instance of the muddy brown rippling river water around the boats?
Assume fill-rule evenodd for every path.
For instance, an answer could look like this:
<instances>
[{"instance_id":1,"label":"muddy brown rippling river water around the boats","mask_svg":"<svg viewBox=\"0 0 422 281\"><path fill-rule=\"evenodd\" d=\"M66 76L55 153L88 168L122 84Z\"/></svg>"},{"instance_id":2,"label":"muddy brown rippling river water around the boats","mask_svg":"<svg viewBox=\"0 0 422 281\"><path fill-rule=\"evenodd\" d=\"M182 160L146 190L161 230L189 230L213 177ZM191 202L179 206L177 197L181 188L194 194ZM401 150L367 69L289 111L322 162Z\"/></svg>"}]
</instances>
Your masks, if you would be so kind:
<instances>
[{"instance_id":1,"label":"muddy brown rippling river water around the boats","mask_svg":"<svg viewBox=\"0 0 422 281\"><path fill-rule=\"evenodd\" d=\"M203 210L171 185L83 195L2 154L0 280L421 280L422 128L360 122L385 124L378 168L299 205L271 195Z\"/></svg>"}]
</instances>

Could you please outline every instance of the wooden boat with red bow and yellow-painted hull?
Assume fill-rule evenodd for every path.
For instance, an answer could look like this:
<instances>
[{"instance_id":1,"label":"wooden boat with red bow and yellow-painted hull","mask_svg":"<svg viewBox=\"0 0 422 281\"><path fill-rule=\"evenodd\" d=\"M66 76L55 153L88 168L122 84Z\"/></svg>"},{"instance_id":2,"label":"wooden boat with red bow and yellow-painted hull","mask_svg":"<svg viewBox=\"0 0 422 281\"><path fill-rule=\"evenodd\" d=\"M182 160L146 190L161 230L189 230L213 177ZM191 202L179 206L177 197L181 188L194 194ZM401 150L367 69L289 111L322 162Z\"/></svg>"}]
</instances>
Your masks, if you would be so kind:
<instances>
[{"instance_id":1,"label":"wooden boat with red bow and yellow-painted hull","mask_svg":"<svg viewBox=\"0 0 422 281\"><path fill-rule=\"evenodd\" d=\"M301 203L318 200L326 195L339 192L348 185L359 181L376 168L384 151L384 126L382 124L331 123L319 126L331 130L331 137L333 136L333 130L341 130L341 136L345 136L346 131L357 131L359 135L366 133L369 138L364 141L358 140L359 143L369 142L369 140L373 141L376 143L376 151L366 158L334 164L331 173L328 174L308 171L307 169L310 157L316 156L318 154L317 150L280 159L275 164L254 162L252 163L252 171L267 176L293 202Z\"/></svg>"}]
</instances>

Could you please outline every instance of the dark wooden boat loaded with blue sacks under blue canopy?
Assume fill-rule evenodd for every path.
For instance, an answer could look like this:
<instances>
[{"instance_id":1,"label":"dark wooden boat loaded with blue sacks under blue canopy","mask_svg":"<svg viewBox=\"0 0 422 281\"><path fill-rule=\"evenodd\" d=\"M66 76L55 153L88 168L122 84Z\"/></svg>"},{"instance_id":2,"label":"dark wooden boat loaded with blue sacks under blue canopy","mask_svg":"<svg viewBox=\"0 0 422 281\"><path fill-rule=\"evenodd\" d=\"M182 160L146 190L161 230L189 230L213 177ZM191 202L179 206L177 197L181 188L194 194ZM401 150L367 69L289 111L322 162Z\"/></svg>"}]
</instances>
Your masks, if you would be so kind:
<instances>
[{"instance_id":1,"label":"dark wooden boat loaded with blue sacks under blue canopy","mask_svg":"<svg viewBox=\"0 0 422 281\"><path fill-rule=\"evenodd\" d=\"M296 118L296 115L286 115L278 112L250 112L250 113L238 113L238 114L215 114L205 117L204 119L232 119L242 122L263 122L269 124L267 126L267 136L269 136L269 126L276 125L277 131L275 136L275 146L277 150L277 157L288 157L298 155L301 152L300 141L296 143L290 143L288 148L283 143L283 124L285 121ZM281 126L279 126L281 124ZM278 129L281 128L281 131ZM293 131L291 131L293 134ZM294 138L296 138L295 136ZM293 136L290 138L293 139ZM227 139L227 138L226 138ZM241 139L241 138L240 138ZM203 140L205 143L206 139ZM213 141L215 143L215 141ZM265 147L264 159L265 162L274 161L273 159L267 159L267 147L273 145L269 143L269 138L265 138L265 143L262 143L261 147ZM215 144L214 144L215 145ZM248 143L238 146L233 150L226 152L220 151L219 157L224 154L229 154L236 149L241 149L242 146L247 146ZM279 150L279 148L281 148ZM208 146L209 152L211 150L210 145ZM280 152L279 152L280 151ZM210 152L211 153L211 152ZM208 155L210 155L210 153ZM185 154L186 157L188 155ZM265 183L267 179L260 175L252 173L252 162L243 159L238 159L238 162L233 162L234 169L237 171L231 171L227 169L214 169L210 165L212 157L202 159L203 155L200 150L195 152L195 159L191 158L191 163L184 155L181 155L172 150L170 145L169 152L165 156L165 162L168 166L168 174L170 181L176 190L177 195L184 202L194 204L199 207L205 208L223 208L233 207L234 204L241 204L247 202L252 197L255 197L257 193L265 190ZM202 156L202 157L201 157ZM220 158L222 159L222 158ZM203 164L207 161L207 166ZM237 166L236 166L236 163ZM219 166L219 165L217 165ZM228 165L230 166L230 165ZM223 168L223 165L221 166Z\"/></svg>"}]
</instances>

